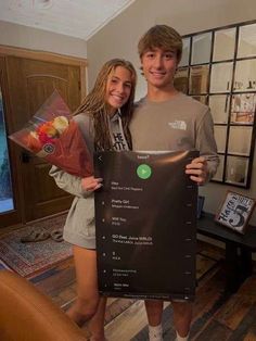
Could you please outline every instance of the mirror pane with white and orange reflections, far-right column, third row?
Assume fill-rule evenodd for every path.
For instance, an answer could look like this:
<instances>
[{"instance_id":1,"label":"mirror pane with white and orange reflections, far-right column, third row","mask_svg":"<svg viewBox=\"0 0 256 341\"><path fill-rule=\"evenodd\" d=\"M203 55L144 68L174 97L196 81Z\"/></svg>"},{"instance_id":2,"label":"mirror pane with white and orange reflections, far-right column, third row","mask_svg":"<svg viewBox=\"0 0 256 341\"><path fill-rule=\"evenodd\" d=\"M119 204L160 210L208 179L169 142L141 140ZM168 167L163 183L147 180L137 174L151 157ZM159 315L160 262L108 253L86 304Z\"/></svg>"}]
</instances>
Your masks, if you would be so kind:
<instances>
[{"instance_id":1,"label":"mirror pane with white and orange reflections, far-right column, third row","mask_svg":"<svg viewBox=\"0 0 256 341\"><path fill-rule=\"evenodd\" d=\"M256 106L256 93L232 96L231 123L253 124Z\"/></svg>"}]
</instances>

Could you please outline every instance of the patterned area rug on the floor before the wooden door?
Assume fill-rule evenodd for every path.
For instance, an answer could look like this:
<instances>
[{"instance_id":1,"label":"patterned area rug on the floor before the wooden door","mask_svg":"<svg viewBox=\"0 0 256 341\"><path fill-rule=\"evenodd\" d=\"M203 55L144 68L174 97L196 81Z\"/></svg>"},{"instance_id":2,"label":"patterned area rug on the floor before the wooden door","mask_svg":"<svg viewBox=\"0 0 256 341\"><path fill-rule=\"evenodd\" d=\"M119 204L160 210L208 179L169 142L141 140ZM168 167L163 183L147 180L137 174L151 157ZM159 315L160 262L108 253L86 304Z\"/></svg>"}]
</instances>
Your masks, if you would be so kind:
<instances>
[{"instance_id":1,"label":"patterned area rug on the floor before the wooden door","mask_svg":"<svg viewBox=\"0 0 256 341\"><path fill-rule=\"evenodd\" d=\"M2 236L0 260L23 277L30 277L72 256L72 247L65 241L56 242L49 238L38 242L21 242L21 238L27 236L31 230L46 229L49 232L55 229L62 230L65 218L66 215L59 215L33 225L28 224Z\"/></svg>"}]
</instances>

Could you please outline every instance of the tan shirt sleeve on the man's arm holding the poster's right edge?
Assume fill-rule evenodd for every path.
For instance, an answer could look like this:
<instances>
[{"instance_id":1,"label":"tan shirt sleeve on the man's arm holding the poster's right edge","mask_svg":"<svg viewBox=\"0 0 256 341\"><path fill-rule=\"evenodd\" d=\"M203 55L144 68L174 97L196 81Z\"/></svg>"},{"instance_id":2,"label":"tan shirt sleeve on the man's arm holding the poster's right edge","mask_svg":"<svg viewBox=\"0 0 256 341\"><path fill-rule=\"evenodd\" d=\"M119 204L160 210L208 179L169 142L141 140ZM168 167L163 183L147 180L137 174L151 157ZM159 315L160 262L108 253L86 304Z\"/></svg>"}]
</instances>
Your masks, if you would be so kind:
<instances>
[{"instance_id":1,"label":"tan shirt sleeve on the man's arm holding the poster's right edge","mask_svg":"<svg viewBox=\"0 0 256 341\"><path fill-rule=\"evenodd\" d=\"M199 123L196 131L196 149L207 160L208 180L215 175L219 165L217 146L214 137L214 122L209 109Z\"/></svg>"}]
</instances>

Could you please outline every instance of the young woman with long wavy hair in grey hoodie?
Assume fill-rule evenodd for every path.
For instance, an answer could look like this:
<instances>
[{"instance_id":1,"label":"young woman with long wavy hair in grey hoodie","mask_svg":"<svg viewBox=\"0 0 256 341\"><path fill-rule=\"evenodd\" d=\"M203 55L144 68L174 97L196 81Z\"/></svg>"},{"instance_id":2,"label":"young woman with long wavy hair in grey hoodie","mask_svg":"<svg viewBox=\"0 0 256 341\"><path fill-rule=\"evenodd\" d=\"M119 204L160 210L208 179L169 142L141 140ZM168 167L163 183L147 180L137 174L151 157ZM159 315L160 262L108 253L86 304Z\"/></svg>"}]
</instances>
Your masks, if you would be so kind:
<instances>
[{"instance_id":1,"label":"young woman with long wavy hair in grey hoodie","mask_svg":"<svg viewBox=\"0 0 256 341\"><path fill-rule=\"evenodd\" d=\"M128 150L131 138L128 124L135 99L136 71L131 63L114 59L100 71L92 91L75 112L92 156L94 150ZM106 299L99 296L93 191L100 178L80 178L55 166L50 171L56 185L75 195L64 226L64 239L74 251L77 300L67 315L79 326L89 320L90 340L104 339Z\"/></svg>"}]
</instances>

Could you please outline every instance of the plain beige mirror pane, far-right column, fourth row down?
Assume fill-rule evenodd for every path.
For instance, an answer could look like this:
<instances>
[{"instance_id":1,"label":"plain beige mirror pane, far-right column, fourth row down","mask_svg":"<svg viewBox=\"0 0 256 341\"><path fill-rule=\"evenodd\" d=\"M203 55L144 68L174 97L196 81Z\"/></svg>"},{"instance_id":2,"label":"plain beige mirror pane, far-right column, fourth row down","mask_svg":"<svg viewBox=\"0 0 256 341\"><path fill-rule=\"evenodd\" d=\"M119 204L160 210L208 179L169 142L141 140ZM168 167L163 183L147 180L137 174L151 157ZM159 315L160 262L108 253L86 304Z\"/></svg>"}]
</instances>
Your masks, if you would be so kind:
<instances>
[{"instance_id":1,"label":"plain beige mirror pane, far-right column, fourth row down","mask_svg":"<svg viewBox=\"0 0 256 341\"><path fill-rule=\"evenodd\" d=\"M248 156L251 150L252 132L252 127L230 127L228 153Z\"/></svg>"}]
</instances>

